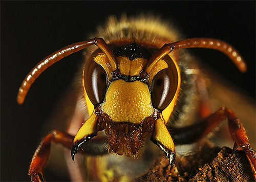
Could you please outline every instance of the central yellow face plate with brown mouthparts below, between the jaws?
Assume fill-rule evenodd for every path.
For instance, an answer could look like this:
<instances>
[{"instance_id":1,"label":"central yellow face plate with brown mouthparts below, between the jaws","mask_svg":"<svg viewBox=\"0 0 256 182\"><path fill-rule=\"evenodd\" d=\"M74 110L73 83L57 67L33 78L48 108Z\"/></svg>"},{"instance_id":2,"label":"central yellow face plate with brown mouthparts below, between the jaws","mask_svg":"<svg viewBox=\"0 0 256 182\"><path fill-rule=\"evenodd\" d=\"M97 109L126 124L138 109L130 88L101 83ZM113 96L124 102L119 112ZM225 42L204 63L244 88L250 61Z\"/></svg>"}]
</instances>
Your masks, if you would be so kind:
<instances>
[{"instance_id":1,"label":"central yellow face plate with brown mouthparts below, between the jaws","mask_svg":"<svg viewBox=\"0 0 256 182\"><path fill-rule=\"evenodd\" d=\"M110 117L105 129L110 151L136 155L147 129L142 129L145 127L143 123L149 125L154 120L148 86L138 80L115 80L111 82L101 108Z\"/></svg>"}]
</instances>

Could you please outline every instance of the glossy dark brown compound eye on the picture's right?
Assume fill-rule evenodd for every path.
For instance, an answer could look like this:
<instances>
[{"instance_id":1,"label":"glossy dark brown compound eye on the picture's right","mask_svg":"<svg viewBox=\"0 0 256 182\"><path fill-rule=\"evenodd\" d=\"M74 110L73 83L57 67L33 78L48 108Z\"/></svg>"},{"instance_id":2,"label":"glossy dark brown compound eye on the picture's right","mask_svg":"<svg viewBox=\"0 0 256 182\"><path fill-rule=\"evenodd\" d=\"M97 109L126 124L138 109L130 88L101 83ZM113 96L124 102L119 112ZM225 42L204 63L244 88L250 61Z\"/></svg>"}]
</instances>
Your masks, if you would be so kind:
<instances>
[{"instance_id":1,"label":"glossy dark brown compound eye on the picture's right","mask_svg":"<svg viewBox=\"0 0 256 182\"><path fill-rule=\"evenodd\" d=\"M152 80L151 99L153 107L162 112L173 100L178 87L177 70L169 67L161 70Z\"/></svg>"}]
</instances>

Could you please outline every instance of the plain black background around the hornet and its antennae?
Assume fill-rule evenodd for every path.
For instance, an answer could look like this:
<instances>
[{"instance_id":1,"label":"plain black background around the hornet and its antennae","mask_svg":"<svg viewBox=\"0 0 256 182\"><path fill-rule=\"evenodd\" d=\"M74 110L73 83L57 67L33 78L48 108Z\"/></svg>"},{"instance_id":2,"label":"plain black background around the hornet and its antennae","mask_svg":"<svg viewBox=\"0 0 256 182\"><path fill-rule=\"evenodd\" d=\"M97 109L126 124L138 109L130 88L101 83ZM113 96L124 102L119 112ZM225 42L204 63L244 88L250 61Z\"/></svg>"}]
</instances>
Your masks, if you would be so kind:
<instances>
[{"instance_id":1,"label":"plain black background around the hornet and its antennae","mask_svg":"<svg viewBox=\"0 0 256 182\"><path fill-rule=\"evenodd\" d=\"M31 87L23 105L16 103L20 83L42 58L84 40L108 15L151 11L173 18L187 38L212 37L233 45L248 72L217 51L193 49L204 63L255 99L255 2L183 1L1 1L1 181L29 181L31 157L41 126L72 81L81 52L50 67ZM46 173L47 180L60 180Z\"/></svg>"}]
</instances>

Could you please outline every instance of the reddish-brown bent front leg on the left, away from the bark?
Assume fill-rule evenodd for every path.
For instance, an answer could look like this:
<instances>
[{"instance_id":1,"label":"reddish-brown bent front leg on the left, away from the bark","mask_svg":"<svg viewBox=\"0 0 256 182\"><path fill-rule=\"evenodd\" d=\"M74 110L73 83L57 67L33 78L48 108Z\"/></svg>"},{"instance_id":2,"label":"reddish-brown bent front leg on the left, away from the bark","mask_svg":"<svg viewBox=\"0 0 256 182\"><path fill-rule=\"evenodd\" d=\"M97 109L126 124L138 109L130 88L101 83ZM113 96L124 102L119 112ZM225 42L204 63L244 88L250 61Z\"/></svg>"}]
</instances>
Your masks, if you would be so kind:
<instances>
[{"instance_id":1,"label":"reddish-brown bent front leg on the left, away from the bark","mask_svg":"<svg viewBox=\"0 0 256 182\"><path fill-rule=\"evenodd\" d=\"M51 142L56 144L61 144L69 149L73 145L74 136L54 130L46 136L44 140L41 141L40 145L37 147L32 162L29 167L29 175L32 181L41 181L39 174L41 174L42 179L45 181L44 177L44 167L47 165L49 160Z\"/></svg>"}]
</instances>

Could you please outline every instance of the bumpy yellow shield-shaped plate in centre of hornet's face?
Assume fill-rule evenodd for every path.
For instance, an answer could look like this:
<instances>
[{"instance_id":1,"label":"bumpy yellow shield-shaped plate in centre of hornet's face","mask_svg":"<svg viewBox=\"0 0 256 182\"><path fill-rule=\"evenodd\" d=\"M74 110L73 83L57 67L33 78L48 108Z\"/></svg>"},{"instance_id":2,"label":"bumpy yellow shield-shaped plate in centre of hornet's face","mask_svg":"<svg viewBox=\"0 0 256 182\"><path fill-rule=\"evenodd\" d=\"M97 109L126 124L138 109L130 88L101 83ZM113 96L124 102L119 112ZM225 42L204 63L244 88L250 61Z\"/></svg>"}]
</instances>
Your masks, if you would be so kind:
<instances>
[{"instance_id":1,"label":"bumpy yellow shield-shaped plate in centre of hornet's face","mask_svg":"<svg viewBox=\"0 0 256 182\"><path fill-rule=\"evenodd\" d=\"M141 123L153 113L150 90L140 81L113 81L101 107L114 122Z\"/></svg>"}]
</instances>

